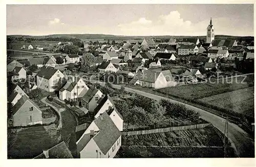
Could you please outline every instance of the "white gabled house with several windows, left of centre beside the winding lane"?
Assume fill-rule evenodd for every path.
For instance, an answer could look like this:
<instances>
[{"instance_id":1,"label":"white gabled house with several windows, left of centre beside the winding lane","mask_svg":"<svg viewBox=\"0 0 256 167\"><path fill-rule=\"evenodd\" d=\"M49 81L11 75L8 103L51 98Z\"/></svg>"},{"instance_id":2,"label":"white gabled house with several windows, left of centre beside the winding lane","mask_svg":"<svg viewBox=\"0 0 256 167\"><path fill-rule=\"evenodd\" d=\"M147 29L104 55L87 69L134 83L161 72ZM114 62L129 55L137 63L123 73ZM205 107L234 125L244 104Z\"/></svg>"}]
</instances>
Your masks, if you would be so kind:
<instances>
[{"instance_id":1,"label":"white gabled house with several windows, left of centre beside the winding lane","mask_svg":"<svg viewBox=\"0 0 256 167\"><path fill-rule=\"evenodd\" d=\"M68 79L67 83L59 89L59 99L66 99L68 101L77 100L78 98L82 98L88 89L88 86L81 78L72 76ZM81 93L82 95L80 95Z\"/></svg>"}]
</instances>

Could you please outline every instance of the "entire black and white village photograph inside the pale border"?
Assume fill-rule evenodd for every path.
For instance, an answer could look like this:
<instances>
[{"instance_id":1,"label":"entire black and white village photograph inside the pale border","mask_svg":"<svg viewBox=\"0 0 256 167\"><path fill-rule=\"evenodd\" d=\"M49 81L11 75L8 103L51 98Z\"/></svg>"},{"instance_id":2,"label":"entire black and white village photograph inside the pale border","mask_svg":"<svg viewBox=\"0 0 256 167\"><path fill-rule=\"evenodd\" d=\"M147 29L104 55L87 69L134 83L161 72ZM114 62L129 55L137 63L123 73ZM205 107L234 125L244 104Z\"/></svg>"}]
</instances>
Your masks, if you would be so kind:
<instances>
[{"instance_id":1,"label":"entire black and white village photograph inside the pale border","mask_svg":"<svg viewBox=\"0 0 256 167\"><path fill-rule=\"evenodd\" d=\"M4 41L7 159L255 157L253 2L7 4Z\"/></svg>"}]
</instances>

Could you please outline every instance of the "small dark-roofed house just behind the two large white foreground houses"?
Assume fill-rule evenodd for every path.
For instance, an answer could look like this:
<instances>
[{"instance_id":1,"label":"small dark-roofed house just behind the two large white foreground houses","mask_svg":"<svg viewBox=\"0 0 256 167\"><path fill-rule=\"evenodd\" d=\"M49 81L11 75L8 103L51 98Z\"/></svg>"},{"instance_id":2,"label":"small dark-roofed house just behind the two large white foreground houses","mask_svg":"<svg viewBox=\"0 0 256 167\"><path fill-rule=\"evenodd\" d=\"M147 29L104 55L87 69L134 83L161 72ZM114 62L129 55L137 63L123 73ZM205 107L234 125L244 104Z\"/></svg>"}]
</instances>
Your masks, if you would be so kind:
<instances>
[{"instance_id":1,"label":"small dark-roofed house just behind the two large white foreground houses","mask_svg":"<svg viewBox=\"0 0 256 167\"><path fill-rule=\"evenodd\" d=\"M103 93L99 89L90 88L82 97L81 106L94 113L94 109L97 107L101 97L103 97Z\"/></svg>"}]
</instances>

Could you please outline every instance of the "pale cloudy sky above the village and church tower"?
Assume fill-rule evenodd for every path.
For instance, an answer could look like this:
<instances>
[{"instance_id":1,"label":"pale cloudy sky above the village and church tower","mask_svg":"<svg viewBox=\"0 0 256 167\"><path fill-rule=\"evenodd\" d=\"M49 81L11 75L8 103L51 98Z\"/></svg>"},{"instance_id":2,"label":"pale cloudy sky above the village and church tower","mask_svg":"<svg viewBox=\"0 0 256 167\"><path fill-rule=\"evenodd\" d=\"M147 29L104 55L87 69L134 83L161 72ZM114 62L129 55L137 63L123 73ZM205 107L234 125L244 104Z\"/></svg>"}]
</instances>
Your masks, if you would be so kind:
<instances>
[{"instance_id":1,"label":"pale cloudy sky above the village and church tower","mask_svg":"<svg viewBox=\"0 0 256 167\"><path fill-rule=\"evenodd\" d=\"M7 5L7 35L253 36L253 4Z\"/></svg>"}]
</instances>

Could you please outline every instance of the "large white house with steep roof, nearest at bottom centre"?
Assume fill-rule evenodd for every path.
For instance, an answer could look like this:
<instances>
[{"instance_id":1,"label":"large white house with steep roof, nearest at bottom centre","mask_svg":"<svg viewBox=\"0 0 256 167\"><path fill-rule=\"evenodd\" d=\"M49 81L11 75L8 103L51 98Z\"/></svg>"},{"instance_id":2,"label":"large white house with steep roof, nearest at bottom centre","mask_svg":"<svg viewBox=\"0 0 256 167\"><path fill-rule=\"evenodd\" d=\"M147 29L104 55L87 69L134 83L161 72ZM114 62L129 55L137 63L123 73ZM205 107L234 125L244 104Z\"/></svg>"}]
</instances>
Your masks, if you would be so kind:
<instances>
[{"instance_id":1,"label":"large white house with steep roof, nearest at bottom centre","mask_svg":"<svg viewBox=\"0 0 256 167\"><path fill-rule=\"evenodd\" d=\"M79 158L113 158L121 147L121 132L108 113L101 113L76 142Z\"/></svg>"}]
</instances>

